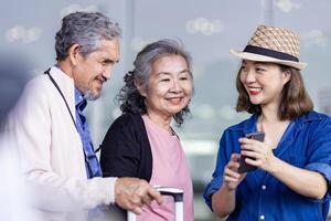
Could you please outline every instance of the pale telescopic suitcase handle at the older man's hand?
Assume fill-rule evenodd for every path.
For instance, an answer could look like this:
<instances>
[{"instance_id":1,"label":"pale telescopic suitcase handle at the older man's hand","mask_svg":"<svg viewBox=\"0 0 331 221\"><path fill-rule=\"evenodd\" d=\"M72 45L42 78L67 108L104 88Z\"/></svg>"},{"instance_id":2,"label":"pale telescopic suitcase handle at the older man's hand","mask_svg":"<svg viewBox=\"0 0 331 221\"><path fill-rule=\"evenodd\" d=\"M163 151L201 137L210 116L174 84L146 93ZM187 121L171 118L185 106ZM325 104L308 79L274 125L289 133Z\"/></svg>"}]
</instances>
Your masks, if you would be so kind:
<instances>
[{"instance_id":1,"label":"pale telescopic suitcase handle at the older man's hand","mask_svg":"<svg viewBox=\"0 0 331 221\"><path fill-rule=\"evenodd\" d=\"M161 194L173 197L175 221L183 221L184 220L183 190L171 188L171 187L156 187L156 189ZM136 221L136 214L134 212L128 211L128 221Z\"/></svg>"}]
</instances>

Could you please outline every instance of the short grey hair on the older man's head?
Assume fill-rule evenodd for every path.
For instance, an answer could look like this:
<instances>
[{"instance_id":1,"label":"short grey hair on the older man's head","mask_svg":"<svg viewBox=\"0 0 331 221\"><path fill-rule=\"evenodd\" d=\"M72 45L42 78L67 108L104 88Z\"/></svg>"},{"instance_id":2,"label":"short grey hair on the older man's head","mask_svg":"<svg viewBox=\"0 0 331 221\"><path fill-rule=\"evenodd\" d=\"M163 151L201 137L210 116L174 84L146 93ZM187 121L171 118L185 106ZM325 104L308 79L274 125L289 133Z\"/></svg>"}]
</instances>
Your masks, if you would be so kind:
<instances>
[{"instance_id":1,"label":"short grey hair on the older man's head","mask_svg":"<svg viewBox=\"0 0 331 221\"><path fill-rule=\"evenodd\" d=\"M56 60L65 60L73 44L78 44L79 52L86 56L98 49L102 40L111 41L120 34L118 23L99 12L71 13L62 19L62 28L55 35Z\"/></svg>"}]
</instances>

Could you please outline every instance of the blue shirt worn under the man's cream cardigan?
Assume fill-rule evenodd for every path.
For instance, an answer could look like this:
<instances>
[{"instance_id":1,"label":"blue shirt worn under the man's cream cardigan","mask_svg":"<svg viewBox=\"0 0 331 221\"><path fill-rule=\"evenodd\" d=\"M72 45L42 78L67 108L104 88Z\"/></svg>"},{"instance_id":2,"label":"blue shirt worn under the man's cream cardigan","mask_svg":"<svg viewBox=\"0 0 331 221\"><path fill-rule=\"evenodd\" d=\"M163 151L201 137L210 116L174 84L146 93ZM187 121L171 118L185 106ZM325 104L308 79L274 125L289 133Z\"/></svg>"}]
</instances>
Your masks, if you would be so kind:
<instances>
[{"instance_id":1,"label":"blue shirt worn under the man's cream cardigan","mask_svg":"<svg viewBox=\"0 0 331 221\"><path fill-rule=\"evenodd\" d=\"M88 124L86 117L83 114L83 110L86 107L86 99L84 99L81 92L77 88L75 88L76 125L83 143L86 173L88 178L102 177L102 168L94 152Z\"/></svg>"}]
</instances>

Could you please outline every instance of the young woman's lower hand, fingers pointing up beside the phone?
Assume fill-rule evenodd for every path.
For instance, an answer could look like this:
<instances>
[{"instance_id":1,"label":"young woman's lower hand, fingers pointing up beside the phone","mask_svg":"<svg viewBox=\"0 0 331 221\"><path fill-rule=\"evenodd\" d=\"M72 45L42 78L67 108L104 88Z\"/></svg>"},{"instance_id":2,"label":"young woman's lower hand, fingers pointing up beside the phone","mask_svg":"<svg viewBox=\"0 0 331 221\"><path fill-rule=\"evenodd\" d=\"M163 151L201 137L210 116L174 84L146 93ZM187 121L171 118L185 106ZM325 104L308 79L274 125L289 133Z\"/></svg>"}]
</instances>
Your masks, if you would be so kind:
<instances>
[{"instance_id":1,"label":"young woman's lower hand, fingers pointing up beside the phone","mask_svg":"<svg viewBox=\"0 0 331 221\"><path fill-rule=\"evenodd\" d=\"M247 173L239 173L239 154L232 154L231 159L224 168L223 186L228 190L235 190L237 186L243 181Z\"/></svg>"}]
</instances>

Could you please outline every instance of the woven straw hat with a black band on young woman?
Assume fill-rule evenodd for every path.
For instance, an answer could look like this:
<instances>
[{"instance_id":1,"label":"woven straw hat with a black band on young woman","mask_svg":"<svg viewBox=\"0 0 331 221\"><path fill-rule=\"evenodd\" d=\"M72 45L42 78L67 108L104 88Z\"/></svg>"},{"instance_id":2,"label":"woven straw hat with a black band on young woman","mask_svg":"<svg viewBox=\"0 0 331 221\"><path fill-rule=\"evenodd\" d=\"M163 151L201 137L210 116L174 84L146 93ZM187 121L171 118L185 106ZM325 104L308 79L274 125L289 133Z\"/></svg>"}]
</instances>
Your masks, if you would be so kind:
<instances>
[{"instance_id":1,"label":"woven straw hat with a black band on young woman","mask_svg":"<svg viewBox=\"0 0 331 221\"><path fill-rule=\"evenodd\" d=\"M299 62L299 36L290 30L259 25L243 52L229 52L244 60L271 62L303 70L307 63Z\"/></svg>"}]
</instances>

